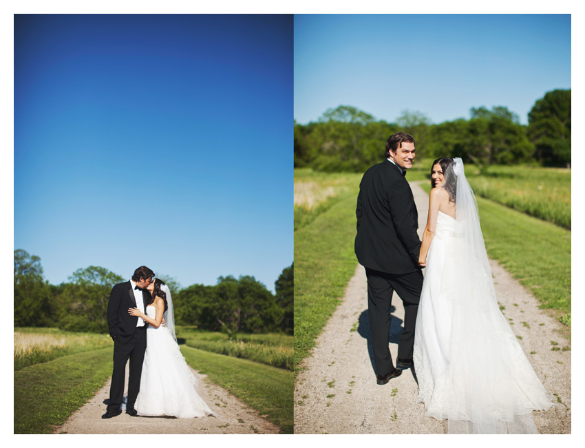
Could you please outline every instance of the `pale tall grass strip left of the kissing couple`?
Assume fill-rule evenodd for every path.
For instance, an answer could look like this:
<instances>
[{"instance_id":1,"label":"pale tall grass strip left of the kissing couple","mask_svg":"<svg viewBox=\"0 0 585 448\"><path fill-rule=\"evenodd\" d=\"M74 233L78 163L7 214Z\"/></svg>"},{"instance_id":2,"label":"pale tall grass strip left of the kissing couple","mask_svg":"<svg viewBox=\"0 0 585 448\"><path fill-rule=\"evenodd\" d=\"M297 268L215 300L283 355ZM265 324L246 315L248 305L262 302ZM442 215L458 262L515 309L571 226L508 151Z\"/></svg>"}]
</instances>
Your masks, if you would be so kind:
<instances>
[{"instance_id":1,"label":"pale tall grass strip left of the kissing couple","mask_svg":"<svg viewBox=\"0 0 585 448\"><path fill-rule=\"evenodd\" d=\"M107 334L72 333L58 328L14 328L14 371L113 344Z\"/></svg>"}]
</instances>

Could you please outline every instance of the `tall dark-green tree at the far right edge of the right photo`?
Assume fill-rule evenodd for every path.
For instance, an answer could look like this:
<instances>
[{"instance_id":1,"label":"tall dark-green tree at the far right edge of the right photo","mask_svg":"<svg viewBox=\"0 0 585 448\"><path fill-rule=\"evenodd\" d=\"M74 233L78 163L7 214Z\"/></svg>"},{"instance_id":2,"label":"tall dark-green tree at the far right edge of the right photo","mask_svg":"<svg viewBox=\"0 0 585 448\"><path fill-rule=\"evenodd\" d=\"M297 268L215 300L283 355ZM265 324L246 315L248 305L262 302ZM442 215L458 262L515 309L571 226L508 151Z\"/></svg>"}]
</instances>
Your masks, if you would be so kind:
<instances>
[{"instance_id":1,"label":"tall dark-green tree at the far right edge of the right photo","mask_svg":"<svg viewBox=\"0 0 585 448\"><path fill-rule=\"evenodd\" d=\"M540 162L571 165L571 89L546 92L528 114L528 133Z\"/></svg>"}]
</instances>

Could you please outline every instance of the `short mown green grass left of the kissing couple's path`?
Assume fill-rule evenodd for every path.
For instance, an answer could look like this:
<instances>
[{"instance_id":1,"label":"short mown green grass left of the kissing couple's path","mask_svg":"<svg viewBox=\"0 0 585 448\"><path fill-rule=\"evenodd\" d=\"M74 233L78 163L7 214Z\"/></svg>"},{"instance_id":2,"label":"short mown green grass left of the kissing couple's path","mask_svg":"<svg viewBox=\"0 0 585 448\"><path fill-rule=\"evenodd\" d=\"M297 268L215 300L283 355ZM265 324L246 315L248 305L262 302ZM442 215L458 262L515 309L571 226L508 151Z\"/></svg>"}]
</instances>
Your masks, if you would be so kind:
<instances>
[{"instance_id":1,"label":"short mown green grass left of the kissing couple's path","mask_svg":"<svg viewBox=\"0 0 585 448\"><path fill-rule=\"evenodd\" d=\"M62 356L14 372L14 434L50 434L111 376L112 349Z\"/></svg>"}]
</instances>

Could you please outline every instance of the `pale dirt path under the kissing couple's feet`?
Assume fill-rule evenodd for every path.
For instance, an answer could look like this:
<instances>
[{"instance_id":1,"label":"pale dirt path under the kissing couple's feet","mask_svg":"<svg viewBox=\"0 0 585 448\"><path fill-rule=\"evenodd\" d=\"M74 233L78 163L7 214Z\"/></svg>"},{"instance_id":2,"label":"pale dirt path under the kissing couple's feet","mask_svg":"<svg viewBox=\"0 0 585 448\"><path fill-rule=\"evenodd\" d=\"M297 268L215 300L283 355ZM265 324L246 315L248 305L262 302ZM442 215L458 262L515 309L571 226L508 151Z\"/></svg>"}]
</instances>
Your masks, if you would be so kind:
<instances>
[{"instance_id":1,"label":"pale dirt path under the kissing couple's feet","mask_svg":"<svg viewBox=\"0 0 585 448\"><path fill-rule=\"evenodd\" d=\"M191 367L189 367L191 368ZM265 420L248 405L222 387L207 380L191 368L199 380L198 394L217 414L215 417L131 417L125 412L103 420L105 401L109 399L111 378L106 385L65 424L56 434L278 434L279 427ZM128 367L126 367L126 378ZM126 381L124 395L127 394Z\"/></svg>"}]
</instances>

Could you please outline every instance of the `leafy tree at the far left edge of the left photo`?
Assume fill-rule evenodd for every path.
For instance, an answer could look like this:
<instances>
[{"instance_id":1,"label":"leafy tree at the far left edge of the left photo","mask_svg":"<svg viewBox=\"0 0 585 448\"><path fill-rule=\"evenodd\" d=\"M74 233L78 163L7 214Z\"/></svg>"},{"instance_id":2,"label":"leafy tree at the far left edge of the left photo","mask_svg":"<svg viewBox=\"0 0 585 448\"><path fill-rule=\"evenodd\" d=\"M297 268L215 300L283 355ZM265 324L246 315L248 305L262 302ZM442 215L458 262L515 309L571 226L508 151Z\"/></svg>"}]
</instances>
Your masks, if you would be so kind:
<instances>
[{"instance_id":1,"label":"leafy tree at the far left edge of the left photo","mask_svg":"<svg viewBox=\"0 0 585 448\"><path fill-rule=\"evenodd\" d=\"M50 325L53 311L41 258L14 250L14 326Z\"/></svg>"}]
</instances>

